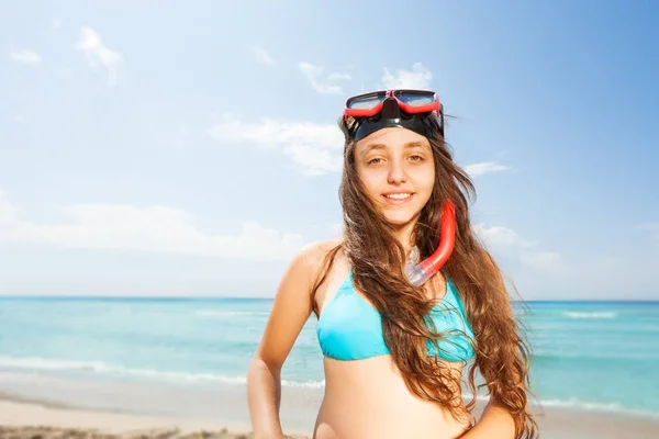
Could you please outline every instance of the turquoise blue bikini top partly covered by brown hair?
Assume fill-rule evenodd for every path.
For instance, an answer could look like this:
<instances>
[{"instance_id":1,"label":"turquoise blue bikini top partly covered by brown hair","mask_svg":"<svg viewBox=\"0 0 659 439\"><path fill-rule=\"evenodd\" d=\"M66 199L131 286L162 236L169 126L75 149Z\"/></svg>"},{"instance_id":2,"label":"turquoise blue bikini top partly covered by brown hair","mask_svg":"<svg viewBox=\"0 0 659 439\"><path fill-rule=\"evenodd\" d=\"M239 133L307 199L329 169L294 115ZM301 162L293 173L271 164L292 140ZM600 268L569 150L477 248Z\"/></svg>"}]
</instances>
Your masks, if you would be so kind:
<instances>
[{"instance_id":1,"label":"turquoise blue bikini top partly covered by brown hair","mask_svg":"<svg viewBox=\"0 0 659 439\"><path fill-rule=\"evenodd\" d=\"M454 362L471 359L473 349L468 339L473 340L473 331L462 301L448 278L446 295L429 314L435 331L448 333L437 340L439 349L433 340L427 340L428 356ZM351 270L324 306L316 333L323 354L336 360L362 360L391 353L384 342L380 313L355 291Z\"/></svg>"}]
</instances>

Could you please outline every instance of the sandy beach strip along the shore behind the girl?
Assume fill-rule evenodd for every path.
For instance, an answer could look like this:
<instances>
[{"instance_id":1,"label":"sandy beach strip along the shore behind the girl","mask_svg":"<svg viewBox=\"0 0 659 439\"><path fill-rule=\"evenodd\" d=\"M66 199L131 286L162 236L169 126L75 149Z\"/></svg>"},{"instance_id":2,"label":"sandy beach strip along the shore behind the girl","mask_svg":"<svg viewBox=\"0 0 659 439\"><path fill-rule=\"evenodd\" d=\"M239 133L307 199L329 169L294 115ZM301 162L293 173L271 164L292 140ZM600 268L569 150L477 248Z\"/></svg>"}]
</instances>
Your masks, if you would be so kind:
<instances>
[{"instance_id":1,"label":"sandy beach strip along the shore behind the girl","mask_svg":"<svg viewBox=\"0 0 659 439\"><path fill-rule=\"evenodd\" d=\"M538 415L541 438L650 439L659 437L659 420L602 413L551 409ZM310 439L309 431L287 431L289 439ZM0 438L222 438L248 439L245 425L208 419L157 417L76 408L3 395Z\"/></svg>"}]
</instances>

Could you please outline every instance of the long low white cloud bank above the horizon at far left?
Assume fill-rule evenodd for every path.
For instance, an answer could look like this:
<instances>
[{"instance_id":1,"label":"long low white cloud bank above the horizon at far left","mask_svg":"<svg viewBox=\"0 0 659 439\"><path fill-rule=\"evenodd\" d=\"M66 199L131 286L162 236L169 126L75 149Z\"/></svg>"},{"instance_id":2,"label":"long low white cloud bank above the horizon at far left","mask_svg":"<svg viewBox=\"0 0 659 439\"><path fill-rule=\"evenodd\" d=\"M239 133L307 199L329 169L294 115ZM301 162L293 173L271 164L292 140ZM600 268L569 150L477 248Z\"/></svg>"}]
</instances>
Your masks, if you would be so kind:
<instances>
[{"instance_id":1,"label":"long low white cloud bank above the horizon at far left","mask_svg":"<svg viewBox=\"0 0 659 439\"><path fill-rule=\"evenodd\" d=\"M37 244L72 249L102 249L186 256L281 260L302 247L302 237L254 222L238 234L209 235L185 211L119 204L64 206L66 223L36 224L20 218L21 209L0 191L0 246Z\"/></svg>"}]
</instances>

